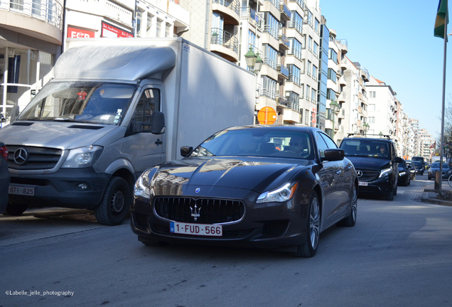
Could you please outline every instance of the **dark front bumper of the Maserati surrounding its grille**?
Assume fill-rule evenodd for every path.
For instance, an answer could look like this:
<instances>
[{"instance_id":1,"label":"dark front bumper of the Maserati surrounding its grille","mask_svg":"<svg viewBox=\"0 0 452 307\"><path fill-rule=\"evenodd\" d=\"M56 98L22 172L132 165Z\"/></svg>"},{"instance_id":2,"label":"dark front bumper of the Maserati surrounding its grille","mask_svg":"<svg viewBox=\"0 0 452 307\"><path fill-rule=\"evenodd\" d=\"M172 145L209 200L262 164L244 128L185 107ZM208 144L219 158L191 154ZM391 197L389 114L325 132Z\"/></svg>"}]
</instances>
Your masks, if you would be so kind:
<instances>
[{"instance_id":1,"label":"dark front bumper of the Maserati surrounding its grille","mask_svg":"<svg viewBox=\"0 0 452 307\"><path fill-rule=\"evenodd\" d=\"M254 203L256 193L237 188L219 188L212 193L225 199L234 195L244 203L244 215L235 222L222 225L222 237L181 235L170 232L171 220L156 215L149 199L135 198L131 208L131 230L143 242L171 242L180 244L209 244L235 247L263 247L281 249L306 241L307 208L311 195L296 194L285 203ZM184 195L185 198L205 198L211 195ZM201 210L207 210L202 208ZM177 221L176 221L177 222ZM194 225L197 223L191 221Z\"/></svg>"}]
</instances>

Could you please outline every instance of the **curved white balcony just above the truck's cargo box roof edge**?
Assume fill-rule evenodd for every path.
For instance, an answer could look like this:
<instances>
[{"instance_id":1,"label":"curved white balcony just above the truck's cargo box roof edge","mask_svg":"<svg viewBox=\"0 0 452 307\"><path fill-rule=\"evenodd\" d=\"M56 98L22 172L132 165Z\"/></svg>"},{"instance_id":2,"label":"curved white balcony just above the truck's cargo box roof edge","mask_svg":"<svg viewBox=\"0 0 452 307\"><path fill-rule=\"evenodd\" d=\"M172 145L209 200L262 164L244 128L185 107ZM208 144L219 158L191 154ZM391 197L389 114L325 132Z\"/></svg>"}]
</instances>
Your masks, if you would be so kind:
<instances>
[{"instance_id":1,"label":"curved white balcony just above the truck's cargo box roof edge","mask_svg":"<svg viewBox=\"0 0 452 307\"><path fill-rule=\"evenodd\" d=\"M239 40L229 32L212 28L210 51L219 53L222 58L235 63L239 59Z\"/></svg>"}]
</instances>

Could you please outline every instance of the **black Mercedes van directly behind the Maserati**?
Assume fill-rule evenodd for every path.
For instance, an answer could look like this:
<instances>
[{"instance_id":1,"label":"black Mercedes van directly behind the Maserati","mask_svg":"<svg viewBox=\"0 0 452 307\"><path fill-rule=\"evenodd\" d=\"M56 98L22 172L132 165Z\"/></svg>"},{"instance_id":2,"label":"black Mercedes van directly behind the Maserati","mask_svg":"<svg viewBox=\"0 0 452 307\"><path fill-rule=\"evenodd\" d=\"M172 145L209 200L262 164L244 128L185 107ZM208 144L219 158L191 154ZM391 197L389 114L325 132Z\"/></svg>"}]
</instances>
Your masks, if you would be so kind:
<instances>
[{"instance_id":1,"label":"black Mercedes van directly behind the Maserati","mask_svg":"<svg viewBox=\"0 0 452 307\"><path fill-rule=\"evenodd\" d=\"M397 195L399 179L398 163L394 141L389 136L364 137L349 134L340 144L345 156L353 163L358 176L360 193L376 193L393 200Z\"/></svg>"}]
</instances>

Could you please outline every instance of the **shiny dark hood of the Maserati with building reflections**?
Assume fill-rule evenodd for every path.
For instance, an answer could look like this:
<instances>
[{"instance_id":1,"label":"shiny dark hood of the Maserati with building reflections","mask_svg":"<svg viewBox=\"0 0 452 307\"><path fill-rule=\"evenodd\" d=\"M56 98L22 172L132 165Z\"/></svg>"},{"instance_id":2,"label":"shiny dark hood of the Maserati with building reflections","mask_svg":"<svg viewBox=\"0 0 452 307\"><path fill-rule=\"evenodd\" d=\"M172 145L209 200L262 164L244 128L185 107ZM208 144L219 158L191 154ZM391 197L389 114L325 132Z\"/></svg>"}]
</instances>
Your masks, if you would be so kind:
<instances>
[{"instance_id":1,"label":"shiny dark hood of the Maserati with building reflections","mask_svg":"<svg viewBox=\"0 0 452 307\"><path fill-rule=\"evenodd\" d=\"M151 186L181 190L183 186L224 187L263 193L290 181L312 161L276 158L186 158L151 168Z\"/></svg>"}]
</instances>

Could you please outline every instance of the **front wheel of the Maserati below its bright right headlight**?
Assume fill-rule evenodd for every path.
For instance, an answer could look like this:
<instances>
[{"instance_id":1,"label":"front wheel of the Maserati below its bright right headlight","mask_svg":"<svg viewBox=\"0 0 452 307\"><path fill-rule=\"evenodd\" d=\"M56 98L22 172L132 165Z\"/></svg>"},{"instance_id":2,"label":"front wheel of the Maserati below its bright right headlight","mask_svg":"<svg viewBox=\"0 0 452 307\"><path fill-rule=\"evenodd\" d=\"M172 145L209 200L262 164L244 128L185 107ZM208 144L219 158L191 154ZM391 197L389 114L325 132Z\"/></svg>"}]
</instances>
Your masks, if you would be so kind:
<instances>
[{"instance_id":1,"label":"front wheel of the Maserati below its bright right headlight","mask_svg":"<svg viewBox=\"0 0 452 307\"><path fill-rule=\"evenodd\" d=\"M320 200L314 191L309 200L308 212L306 214L306 242L297 245L296 252L291 252L294 257L313 257L318 249L318 238L320 236L321 208Z\"/></svg>"}]
</instances>

